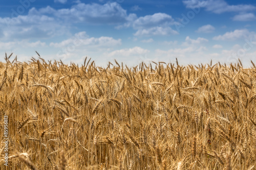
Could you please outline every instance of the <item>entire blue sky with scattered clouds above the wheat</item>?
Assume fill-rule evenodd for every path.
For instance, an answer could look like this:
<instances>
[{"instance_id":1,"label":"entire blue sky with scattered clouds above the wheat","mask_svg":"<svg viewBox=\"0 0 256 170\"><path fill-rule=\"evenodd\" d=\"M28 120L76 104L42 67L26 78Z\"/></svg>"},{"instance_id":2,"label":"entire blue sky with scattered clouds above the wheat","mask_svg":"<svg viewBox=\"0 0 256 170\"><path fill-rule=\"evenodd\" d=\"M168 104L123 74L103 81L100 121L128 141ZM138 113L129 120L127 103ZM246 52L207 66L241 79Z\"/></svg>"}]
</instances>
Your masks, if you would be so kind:
<instances>
[{"instance_id":1,"label":"entire blue sky with scattered clouds above the wheat","mask_svg":"<svg viewBox=\"0 0 256 170\"><path fill-rule=\"evenodd\" d=\"M256 2L2 0L0 54L105 66L256 62ZM14 57L13 56L13 57Z\"/></svg>"}]
</instances>

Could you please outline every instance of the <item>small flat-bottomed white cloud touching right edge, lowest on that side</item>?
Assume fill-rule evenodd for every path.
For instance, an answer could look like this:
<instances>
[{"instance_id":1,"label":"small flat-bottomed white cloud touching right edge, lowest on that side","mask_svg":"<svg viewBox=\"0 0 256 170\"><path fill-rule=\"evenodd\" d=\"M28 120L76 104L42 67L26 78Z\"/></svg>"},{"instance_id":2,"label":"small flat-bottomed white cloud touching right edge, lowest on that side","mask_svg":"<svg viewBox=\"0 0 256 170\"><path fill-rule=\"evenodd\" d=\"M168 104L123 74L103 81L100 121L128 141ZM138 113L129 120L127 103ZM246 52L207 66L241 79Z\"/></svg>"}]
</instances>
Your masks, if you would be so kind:
<instances>
[{"instance_id":1,"label":"small flat-bottomed white cloud touching right edge, lowest on that side","mask_svg":"<svg viewBox=\"0 0 256 170\"><path fill-rule=\"evenodd\" d=\"M247 29L243 30L234 30L233 32L226 32L224 35L215 36L214 40L238 40L238 39L255 39L256 33L249 32Z\"/></svg>"}]
</instances>

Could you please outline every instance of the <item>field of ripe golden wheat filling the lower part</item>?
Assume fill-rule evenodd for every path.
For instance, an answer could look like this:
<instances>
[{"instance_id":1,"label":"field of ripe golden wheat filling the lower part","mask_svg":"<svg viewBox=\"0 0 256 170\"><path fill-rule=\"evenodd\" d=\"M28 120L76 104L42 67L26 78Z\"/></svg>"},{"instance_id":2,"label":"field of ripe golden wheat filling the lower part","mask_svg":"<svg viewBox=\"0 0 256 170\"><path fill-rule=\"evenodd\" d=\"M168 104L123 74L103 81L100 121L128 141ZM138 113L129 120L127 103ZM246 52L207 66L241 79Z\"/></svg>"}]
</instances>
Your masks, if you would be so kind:
<instances>
[{"instance_id":1,"label":"field of ripe golden wheat filling the lower part","mask_svg":"<svg viewBox=\"0 0 256 170\"><path fill-rule=\"evenodd\" d=\"M0 169L256 168L253 63L101 68L6 56L0 74Z\"/></svg>"}]
</instances>

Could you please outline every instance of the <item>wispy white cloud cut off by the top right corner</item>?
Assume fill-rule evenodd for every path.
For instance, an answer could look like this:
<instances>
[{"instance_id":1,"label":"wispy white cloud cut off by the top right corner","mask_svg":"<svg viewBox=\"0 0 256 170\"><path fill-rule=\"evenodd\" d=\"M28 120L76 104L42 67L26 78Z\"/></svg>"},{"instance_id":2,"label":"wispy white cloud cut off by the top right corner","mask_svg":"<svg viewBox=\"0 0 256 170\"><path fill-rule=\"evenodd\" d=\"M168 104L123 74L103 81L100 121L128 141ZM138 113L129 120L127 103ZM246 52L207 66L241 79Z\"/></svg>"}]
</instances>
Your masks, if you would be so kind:
<instances>
[{"instance_id":1,"label":"wispy white cloud cut off by the top right corner","mask_svg":"<svg viewBox=\"0 0 256 170\"><path fill-rule=\"evenodd\" d=\"M224 0L188 0L182 1L186 8L204 7L206 11L211 11L216 14L223 12L247 12L255 10L253 5L228 5Z\"/></svg>"}]
</instances>

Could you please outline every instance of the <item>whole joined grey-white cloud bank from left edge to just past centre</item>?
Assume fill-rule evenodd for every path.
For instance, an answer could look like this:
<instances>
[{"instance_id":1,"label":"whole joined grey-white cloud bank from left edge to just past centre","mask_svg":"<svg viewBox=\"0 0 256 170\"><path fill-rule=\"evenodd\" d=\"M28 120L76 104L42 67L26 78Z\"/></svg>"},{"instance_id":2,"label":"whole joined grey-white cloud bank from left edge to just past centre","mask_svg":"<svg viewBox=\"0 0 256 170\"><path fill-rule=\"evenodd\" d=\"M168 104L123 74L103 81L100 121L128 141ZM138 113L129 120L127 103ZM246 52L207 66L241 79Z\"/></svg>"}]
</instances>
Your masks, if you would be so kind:
<instances>
[{"instance_id":1,"label":"whole joined grey-white cloud bank from left edge to just past centre","mask_svg":"<svg viewBox=\"0 0 256 170\"><path fill-rule=\"evenodd\" d=\"M0 38L2 40L49 38L70 34L74 23L96 25L124 23L135 20L136 14L126 14L120 4L84 4L77 2L67 9L52 7L31 8L27 15L0 17Z\"/></svg>"}]
</instances>

